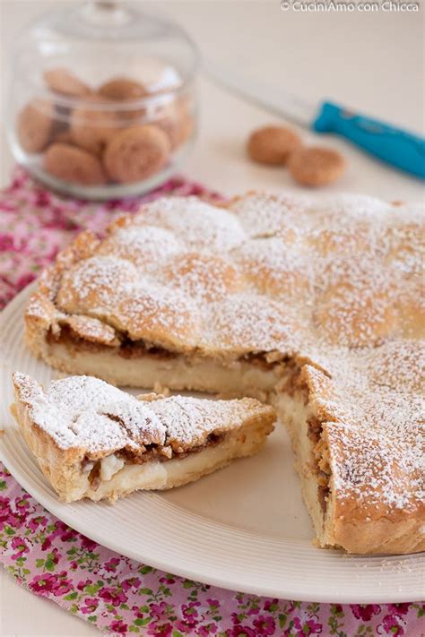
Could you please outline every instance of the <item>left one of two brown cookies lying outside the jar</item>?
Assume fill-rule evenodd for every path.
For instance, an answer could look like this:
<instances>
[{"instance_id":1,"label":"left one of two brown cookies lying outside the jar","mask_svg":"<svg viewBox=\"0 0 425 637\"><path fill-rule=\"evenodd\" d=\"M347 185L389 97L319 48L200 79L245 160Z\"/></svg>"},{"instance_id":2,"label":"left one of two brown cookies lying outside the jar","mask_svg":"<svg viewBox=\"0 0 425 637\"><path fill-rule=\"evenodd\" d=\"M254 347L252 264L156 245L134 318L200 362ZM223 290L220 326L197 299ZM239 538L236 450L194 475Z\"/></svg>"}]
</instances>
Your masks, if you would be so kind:
<instances>
[{"instance_id":1,"label":"left one of two brown cookies lying outside the jar","mask_svg":"<svg viewBox=\"0 0 425 637\"><path fill-rule=\"evenodd\" d=\"M264 126L251 133L247 154L259 164L283 166L301 146L299 135L286 126Z\"/></svg>"}]
</instances>

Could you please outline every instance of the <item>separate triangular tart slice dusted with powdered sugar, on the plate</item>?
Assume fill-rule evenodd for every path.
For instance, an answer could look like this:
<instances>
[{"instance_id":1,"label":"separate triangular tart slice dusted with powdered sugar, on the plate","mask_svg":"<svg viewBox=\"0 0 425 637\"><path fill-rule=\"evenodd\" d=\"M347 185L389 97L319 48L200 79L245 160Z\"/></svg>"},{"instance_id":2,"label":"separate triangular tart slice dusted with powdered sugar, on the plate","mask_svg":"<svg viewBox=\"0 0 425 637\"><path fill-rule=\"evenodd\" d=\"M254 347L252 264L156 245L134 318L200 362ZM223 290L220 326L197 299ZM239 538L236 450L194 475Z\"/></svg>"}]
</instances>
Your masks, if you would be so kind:
<instances>
[{"instance_id":1,"label":"separate triangular tart slice dusted with powdered sugar, on the plate","mask_svg":"<svg viewBox=\"0 0 425 637\"><path fill-rule=\"evenodd\" d=\"M135 398L91 376L47 390L26 374L13 383L13 416L65 502L185 485L258 452L275 420L272 407L248 398Z\"/></svg>"}]
</instances>

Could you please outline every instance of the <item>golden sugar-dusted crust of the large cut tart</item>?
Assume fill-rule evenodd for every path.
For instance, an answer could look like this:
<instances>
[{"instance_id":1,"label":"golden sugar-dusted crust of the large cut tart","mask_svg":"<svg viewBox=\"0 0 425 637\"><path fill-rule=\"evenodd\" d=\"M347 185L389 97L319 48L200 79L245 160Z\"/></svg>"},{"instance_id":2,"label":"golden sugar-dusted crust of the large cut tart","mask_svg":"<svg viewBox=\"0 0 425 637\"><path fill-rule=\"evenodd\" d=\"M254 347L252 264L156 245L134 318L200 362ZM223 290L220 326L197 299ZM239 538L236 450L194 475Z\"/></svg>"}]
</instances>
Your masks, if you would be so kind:
<instances>
[{"instance_id":1,"label":"golden sugar-dusted crust of the large cut tart","mask_svg":"<svg viewBox=\"0 0 425 637\"><path fill-rule=\"evenodd\" d=\"M291 375L308 364L310 396L321 388L320 405L337 414L320 421L332 489L319 542L359 553L421 550L423 237L420 204L351 195L247 194L228 206L157 200L58 256L31 298L27 341L50 365L134 385L139 350L168 355L171 370L182 357L226 373L264 366L268 400L289 392L285 366ZM110 365L96 371L107 353L122 363L129 345L134 358L116 377ZM152 383L226 389L220 374L208 383L192 375Z\"/></svg>"}]
</instances>

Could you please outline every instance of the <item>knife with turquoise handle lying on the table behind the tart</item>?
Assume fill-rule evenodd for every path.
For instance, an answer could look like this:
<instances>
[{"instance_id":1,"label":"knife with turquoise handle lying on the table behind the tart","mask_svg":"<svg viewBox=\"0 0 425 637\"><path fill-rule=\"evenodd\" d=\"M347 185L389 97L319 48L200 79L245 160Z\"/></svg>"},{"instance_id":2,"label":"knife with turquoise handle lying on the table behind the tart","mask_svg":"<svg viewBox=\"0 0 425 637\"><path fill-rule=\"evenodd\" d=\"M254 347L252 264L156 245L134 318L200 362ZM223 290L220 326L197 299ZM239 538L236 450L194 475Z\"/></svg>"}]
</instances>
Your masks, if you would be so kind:
<instances>
[{"instance_id":1,"label":"knife with turquoise handle lying on the table behind the tart","mask_svg":"<svg viewBox=\"0 0 425 637\"><path fill-rule=\"evenodd\" d=\"M419 135L331 101L309 104L284 90L253 81L209 61L204 62L204 71L222 87L276 115L285 116L317 133L339 135L387 164L425 179L425 140Z\"/></svg>"}]
</instances>

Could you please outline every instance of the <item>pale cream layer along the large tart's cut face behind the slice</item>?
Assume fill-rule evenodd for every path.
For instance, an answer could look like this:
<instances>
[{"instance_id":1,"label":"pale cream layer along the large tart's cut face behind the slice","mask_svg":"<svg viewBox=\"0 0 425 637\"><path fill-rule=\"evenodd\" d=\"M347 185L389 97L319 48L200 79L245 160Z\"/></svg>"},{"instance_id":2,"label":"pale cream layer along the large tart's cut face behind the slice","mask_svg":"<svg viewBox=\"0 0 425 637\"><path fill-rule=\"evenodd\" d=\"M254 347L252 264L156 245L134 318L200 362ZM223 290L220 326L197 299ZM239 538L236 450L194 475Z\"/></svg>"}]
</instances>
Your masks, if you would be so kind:
<instances>
[{"instance_id":1,"label":"pale cream layer along the large tart's cut face behind the slice","mask_svg":"<svg viewBox=\"0 0 425 637\"><path fill-rule=\"evenodd\" d=\"M223 363L208 357L123 358L116 349L87 351L63 343L44 341L43 358L69 374L98 376L108 383L130 387L152 387L160 383L171 390L241 394L266 399L284 374L276 364L264 369L248 360Z\"/></svg>"}]
</instances>

